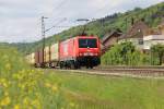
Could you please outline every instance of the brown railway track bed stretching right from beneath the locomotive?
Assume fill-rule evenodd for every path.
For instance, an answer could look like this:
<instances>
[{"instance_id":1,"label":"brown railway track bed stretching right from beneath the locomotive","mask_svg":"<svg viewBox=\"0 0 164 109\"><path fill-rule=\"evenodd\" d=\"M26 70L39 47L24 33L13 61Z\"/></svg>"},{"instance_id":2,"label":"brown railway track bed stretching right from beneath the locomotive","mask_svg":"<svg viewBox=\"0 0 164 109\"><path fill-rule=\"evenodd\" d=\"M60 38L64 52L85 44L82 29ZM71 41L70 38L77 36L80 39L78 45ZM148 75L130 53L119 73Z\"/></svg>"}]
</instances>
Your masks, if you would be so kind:
<instances>
[{"instance_id":1,"label":"brown railway track bed stretching right from beneath the locomotive","mask_svg":"<svg viewBox=\"0 0 164 109\"><path fill-rule=\"evenodd\" d=\"M91 75L113 75L113 76L128 76L136 78L163 78L164 68L94 68L94 69L81 69L81 70L60 70L63 72L91 74Z\"/></svg>"}]
</instances>

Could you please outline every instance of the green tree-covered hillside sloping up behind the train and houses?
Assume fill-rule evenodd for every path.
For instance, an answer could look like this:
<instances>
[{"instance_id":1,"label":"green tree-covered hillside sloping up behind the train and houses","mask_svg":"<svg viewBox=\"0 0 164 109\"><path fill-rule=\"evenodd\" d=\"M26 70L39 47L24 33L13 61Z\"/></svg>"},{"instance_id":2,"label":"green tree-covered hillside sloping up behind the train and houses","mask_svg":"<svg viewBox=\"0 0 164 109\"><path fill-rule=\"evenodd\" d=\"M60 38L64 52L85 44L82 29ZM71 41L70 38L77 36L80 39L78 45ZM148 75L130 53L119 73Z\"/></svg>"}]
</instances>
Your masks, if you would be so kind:
<instances>
[{"instance_id":1,"label":"green tree-covered hillside sloping up behind the train and houses","mask_svg":"<svg viewBox=\"0 0 164 109\"><path fill-rule=\"evenodd\" d=\"M97 35L99 37L103 37L107 32L110 32L114 28L119 28L126 33L126 31L131 26L132 19L134 21L144 20L150 27L155 27L162 22L163 17L164 2L161 2L147 9L136 8L125 13L115 13L113 15L90 22L86 24L85 33L89 35ZM81 34L82 31L82 25L63 31L57 35L48 37L46 39L46 45L51 45L57 40L73 37ZM39 40L31 44L13 44L13 46L16 46L23 53L30 53L36 49L40 49L43 47L43 41Z\"/></svg>"}]
</instances>

